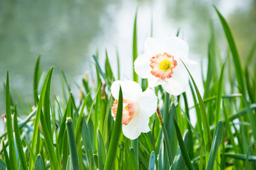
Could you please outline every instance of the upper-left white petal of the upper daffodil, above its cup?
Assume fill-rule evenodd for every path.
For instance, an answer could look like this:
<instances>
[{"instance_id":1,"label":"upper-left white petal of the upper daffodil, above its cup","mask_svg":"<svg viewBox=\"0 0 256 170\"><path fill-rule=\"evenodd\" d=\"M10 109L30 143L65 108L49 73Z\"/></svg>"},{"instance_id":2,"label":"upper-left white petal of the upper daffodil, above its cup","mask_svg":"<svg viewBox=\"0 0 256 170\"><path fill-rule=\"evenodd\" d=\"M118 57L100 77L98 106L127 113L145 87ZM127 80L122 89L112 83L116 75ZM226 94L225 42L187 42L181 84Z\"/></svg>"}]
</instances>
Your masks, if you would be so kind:
<instances>
[{"instance_id":1,"label":"upper-left white petal of the upper daffodil, above its cup","mask_svg":"<svg viewBox=\"0 0 256 170\"><path fill-rule=\"evenodd\" d=\"M147 54L150 54L152 55L151 57L153 57L156 56L156 54L163 53L165 48L163 43L156 40L156 38L150 37L145 40L144 49Z\"/></svg>"}]
</instances>

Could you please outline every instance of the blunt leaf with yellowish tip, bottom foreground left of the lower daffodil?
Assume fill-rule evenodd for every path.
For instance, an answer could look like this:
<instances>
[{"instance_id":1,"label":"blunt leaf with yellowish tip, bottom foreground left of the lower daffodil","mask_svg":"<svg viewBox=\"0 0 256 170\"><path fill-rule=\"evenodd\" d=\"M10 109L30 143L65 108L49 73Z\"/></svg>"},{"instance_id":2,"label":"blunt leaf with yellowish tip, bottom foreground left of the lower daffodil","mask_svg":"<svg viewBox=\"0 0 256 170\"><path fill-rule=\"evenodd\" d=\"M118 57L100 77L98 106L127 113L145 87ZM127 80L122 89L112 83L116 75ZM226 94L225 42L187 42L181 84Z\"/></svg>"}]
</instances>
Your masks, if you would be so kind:
<instances>
[{"instance_id":1,"label":"blunt leaf with yellowish tip, bottom foreground left of the lower daffodil","mask_svg":"<svg viewBox=\"0 0 256 170\"><path fill-rule=\"evenodd\" d=\"M76 139L74 134L73 121L71 118L67 118L66 125L67 125L68 143L69 143L69 150L71 155L72 168L79 169Z\"/></svg>"}]
</instances>

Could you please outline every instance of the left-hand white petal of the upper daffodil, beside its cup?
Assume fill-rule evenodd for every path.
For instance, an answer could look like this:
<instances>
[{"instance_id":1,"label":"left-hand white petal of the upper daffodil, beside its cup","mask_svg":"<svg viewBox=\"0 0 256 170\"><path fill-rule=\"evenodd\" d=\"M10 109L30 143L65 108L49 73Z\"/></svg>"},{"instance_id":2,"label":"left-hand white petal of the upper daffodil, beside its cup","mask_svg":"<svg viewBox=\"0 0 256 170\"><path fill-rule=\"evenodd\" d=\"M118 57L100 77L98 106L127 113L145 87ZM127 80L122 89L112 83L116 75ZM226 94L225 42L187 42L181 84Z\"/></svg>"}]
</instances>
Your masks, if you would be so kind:
<instances>
[{"instance_id":1,"label":"left-hand white petal of the upper daffodil, beside its cup","mask_svg":"<svg viewBox=\"0 0 256 170\"><path fill-rule=\"evenodd\" d=\"M135 72L143 79L147 79L150 76L150 71L152 68L150 65L150 57L147 54L140 55L134 61L134 70Z\"/></svg>"}]
</instances>

